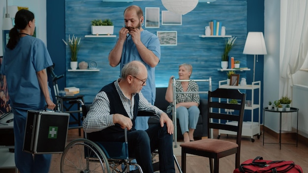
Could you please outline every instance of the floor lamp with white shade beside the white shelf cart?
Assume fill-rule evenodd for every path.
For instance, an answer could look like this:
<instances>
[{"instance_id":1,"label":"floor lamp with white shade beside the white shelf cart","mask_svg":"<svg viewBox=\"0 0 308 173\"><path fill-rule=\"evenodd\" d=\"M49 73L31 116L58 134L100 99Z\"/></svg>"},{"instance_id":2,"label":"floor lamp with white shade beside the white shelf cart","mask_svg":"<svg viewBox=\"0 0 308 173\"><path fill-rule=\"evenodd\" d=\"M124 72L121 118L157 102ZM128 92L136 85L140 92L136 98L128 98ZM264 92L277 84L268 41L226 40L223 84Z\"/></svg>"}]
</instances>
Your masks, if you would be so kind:
<instances>
[{"instance_id":1,"label":"floor lamp with white shade beside the white shelf cart","mask_svg":"<svg viewBox=\"0 0 308 173\"><path fill-rule=\"evenodd\" d=\"M255 56L267 55L263 32L248 32L243 54L253 55L253 81L255 73Z\"/></svg>"}]
</instances>

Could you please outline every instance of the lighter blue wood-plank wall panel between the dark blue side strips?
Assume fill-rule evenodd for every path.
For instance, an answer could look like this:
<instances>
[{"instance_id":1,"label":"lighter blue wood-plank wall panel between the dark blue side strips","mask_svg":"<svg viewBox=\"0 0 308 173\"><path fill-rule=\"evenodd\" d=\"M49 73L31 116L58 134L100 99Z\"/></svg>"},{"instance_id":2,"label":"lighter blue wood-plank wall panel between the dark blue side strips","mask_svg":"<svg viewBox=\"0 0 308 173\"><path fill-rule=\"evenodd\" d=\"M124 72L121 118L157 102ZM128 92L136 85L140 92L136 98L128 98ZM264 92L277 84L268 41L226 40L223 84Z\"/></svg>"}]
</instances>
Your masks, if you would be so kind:
<instances>
[{"instance_id":1,"label":"lighter blue wood-plank wall panel between the dark blue side strips","mask_svg":"<svg viewBox=\"0 0 308 173\"><path fill-rule=\"evenodd\" d=\"M146 7L159 7L160 11L166 10L160 0L129 3L65 0L65 38L72 34L82 37L78 61L94 60L100 69L99 72L66 71L66 86L79 87L81 93L85 94L86 102L92 102L100 88L116 80L120 74L119 66L111 67L108 62L108 54L117 38L85 38L85 35L91 34L91 20L110 18L115 26L114 34L117 35L123 26L123 11L132 4L140 6L144 13ZM229 55L241 60L241 66L245 67L246 56L242 52L247 33L246 11L246 0L217 0L211 4L198 3L193 11L182 16L182 26L143 27L154 34L156 31L177 31L177 46L161 46L161 59L155 71L156 86L166 87L171 75L178 76L178 66L182 63L192 64L192 79L212 77L213 89L218 87L219 80L226 79L226 72L220 72L217 69L220 68L220 57L227 38L199 37L199 35L204 35L205 26L208 26L213 19L223 23L227 35L237 37L236 46ZM66 49L65 57L67 70L70 68L69 49ZM245 72L239 73L241 78L246 78ZM208 90L206 84L200 85L200 90ZM204 95L204 97L207 96Z\"/></svg>"}]
</instances>

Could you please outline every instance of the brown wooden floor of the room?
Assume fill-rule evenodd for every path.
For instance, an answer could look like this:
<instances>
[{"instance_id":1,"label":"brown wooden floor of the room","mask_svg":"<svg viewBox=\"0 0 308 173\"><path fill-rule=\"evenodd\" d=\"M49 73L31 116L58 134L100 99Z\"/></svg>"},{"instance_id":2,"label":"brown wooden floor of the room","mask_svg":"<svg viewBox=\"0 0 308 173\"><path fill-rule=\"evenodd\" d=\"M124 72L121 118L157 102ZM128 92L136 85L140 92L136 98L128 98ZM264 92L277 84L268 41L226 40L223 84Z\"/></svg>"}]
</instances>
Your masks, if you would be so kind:
<instances>
[{"instance_id":1,"label":"brown wooden floor of the room","mask_svg":"<svg viewBox=\"0 0 308 173\"><path fill-rule=\"evenodd\" d=\"M216 132L215 132L216 134ZM68 132L67 142L73 139L80 138L78 136L77 129L71 129ZM234 141L235 138L221 134L221 140ZM304 173L308 171L308 144L299 141L298 147L296 147L295 140L283 139L282 143L293 143L293 144L282 144L281 150L279 149L279 144L262 144L263 134L260 139L254 137L255 141L252 143L250 137L242 138L241 147L241 162L247 159L253 159L256 156L262 156L264 160L292 160L297 165L303 168ZM266 143L278 143L277 138L272 135L265 133ZM178 144L178 148L175 148L175 155L178 162L181 165L181 148ZM60 160L62 154L53 154L51 169L49 173L59 173L60 172ZM208 158L199 156L187 156L187 173L209 173L209 160ZM235 155L231 155L220 159L219 161L219 172L220 173L233 173L235 168L234 164ZM4 172L2 172L4 171ZM176 170L177 173L179 171ZM1 173L14 173L13 170L1 170Z\"/></svg>"}]
</instances>

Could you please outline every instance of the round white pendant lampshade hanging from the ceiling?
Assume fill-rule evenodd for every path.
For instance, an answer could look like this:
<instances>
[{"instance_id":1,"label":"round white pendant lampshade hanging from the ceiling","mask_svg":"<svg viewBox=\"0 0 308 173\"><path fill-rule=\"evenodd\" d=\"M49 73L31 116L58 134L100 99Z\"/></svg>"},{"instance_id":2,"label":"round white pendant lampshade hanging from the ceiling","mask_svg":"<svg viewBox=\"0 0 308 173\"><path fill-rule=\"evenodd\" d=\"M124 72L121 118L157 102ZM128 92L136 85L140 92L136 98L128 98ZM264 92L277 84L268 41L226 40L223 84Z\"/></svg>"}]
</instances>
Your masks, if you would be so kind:
<instances>
[{"instance_id":1,"label":"round white pendant lampshade hanging from the ceiling","mask_svg":"<svg viewBox=\"0 0 308 173\"><path fill-rule=\"evenodd\" d=\"M198 0L161 0L161 2L167 10L182 15L193 10L198 4Z\"/></svg>"}]
</instances>

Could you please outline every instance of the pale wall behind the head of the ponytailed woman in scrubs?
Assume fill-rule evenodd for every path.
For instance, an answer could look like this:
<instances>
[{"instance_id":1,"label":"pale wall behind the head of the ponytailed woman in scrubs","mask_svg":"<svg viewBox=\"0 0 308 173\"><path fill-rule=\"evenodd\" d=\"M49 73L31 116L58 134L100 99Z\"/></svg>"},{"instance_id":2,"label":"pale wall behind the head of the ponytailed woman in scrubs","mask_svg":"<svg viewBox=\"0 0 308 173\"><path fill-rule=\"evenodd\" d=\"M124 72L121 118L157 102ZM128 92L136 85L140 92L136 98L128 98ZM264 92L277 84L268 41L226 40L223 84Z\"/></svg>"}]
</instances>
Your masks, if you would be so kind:
<instances>
[{"instance_id":1,"label":"pale wall behind the head of the ponytailed woman in scrubs","mask_svg":"<svg viewBox=\"0 0 308 173\"><path fill-rule=\"evenodd\" d=\"M8 0L8 5L18 5L29 7L29 10L34 13L36 25L36 37L43 40L47 44L46 31L46 0ZM6 8L6 0L0 0L0 29L2 30L2 19ZM2 31L0 34L0 56L3 55L2 50Z\"/></svg>"}]
</instances>

